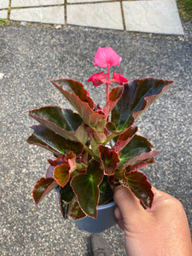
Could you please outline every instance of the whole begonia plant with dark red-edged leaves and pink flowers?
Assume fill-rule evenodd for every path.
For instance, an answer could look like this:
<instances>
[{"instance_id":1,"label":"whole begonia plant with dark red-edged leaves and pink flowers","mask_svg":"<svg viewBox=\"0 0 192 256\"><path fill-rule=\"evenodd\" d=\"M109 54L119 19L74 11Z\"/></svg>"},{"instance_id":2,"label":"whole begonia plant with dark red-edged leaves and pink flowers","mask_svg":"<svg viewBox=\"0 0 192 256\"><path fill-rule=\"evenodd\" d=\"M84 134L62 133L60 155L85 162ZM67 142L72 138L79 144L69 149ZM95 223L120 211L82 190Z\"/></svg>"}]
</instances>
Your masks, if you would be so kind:
<instances>
[{"instance_id":1,"label":"whole begonia plant with dark red-edged leaves and pink flowers","mask_svg":"<svg viewBox=\"0 0 192 256\"><path fill-rule=\"evenodd\" d=\"M152 164L160 151L154 150L146 137L137 135L134 122L173 81L128 81L115 72L111 76L110 67L119 65L121 60L110 47L96 51L94 65L107 68L107 72L96 73L88 81L94 86L106 84L103 108L93 102L78 81L52 79L50 82L75 111L56 106L29 111L40 125L32 126L33 134L27 143L48 149L54 155L53 160L48 160L46 176L32 189L33 199L38 204L52 189L57 189L63 218L74 218L77 224L80 219L89 223L90 218L92 226L91 221L98 219L97 212L102 206L105 208L109 203L114 207L113 189L118 185L128 186L143 207L151 207L153 202L151 185L138 170ZM110 223L115 223L114 218L96 232L108 228ZM94 232L84 224L79 226Z\"/></svg>"}]
</instances>

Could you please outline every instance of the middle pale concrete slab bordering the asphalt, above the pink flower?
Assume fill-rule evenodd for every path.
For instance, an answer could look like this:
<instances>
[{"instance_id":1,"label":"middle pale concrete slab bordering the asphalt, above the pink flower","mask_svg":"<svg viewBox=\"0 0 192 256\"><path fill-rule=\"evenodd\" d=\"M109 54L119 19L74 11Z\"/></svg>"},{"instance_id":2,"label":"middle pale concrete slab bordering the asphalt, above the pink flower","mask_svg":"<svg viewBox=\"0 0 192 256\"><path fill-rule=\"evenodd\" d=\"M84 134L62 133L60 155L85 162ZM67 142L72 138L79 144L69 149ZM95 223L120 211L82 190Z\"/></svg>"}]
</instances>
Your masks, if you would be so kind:
<instances>
[{"instance_id":1,"label":"middle pale concrete slab bordering the asphalt, above the pink flower","mask_svg":"<svg viewBox=\"0 0 192 256\"><path fill-rule=\"evenodd\" d=\"M120 3L67 5L67 24L124 29Z\"/></svg>"}]
</instances>

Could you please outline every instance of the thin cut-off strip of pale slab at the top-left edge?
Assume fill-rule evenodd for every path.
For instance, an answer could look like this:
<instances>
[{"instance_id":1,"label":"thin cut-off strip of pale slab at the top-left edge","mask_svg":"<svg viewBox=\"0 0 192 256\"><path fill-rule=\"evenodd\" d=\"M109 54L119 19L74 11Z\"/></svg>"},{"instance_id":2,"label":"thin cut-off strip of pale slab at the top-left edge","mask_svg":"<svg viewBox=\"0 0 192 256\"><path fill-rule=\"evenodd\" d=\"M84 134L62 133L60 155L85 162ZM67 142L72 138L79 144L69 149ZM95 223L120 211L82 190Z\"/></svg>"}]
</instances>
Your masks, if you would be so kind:
<instances>
[{"instance_id":1,"label":"thin cut-off strip of pale slab at the top-left edge","mask_svg":"<svg viewBox=\"0 0 192 256\"><path fill-rule=\"evenodd\" d=\"M11 0L11 7L56 5L64 2L65 0Z\"/></svg>"}]
</instances>

